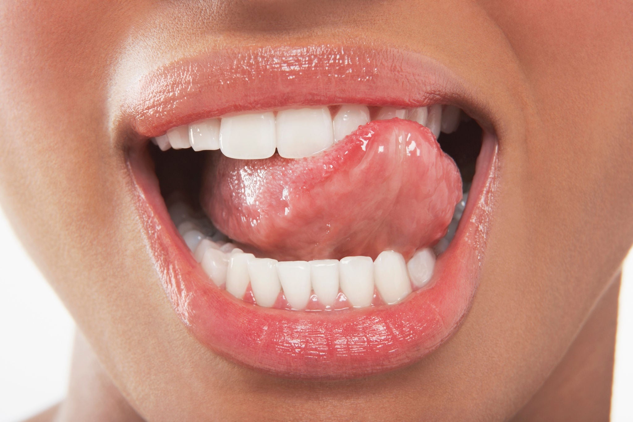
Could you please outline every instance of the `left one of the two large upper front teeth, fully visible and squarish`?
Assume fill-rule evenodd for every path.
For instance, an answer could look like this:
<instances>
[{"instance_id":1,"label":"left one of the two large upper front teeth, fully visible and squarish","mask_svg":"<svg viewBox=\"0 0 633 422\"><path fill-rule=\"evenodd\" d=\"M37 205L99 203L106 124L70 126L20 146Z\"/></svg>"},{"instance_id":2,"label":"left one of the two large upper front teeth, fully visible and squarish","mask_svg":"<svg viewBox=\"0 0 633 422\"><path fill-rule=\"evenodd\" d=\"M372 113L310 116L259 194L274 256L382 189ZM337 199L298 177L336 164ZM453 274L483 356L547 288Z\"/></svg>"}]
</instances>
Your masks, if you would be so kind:
<instances>
[{"instance_id":1,"label":"left one of the two large upper front teeth, fully visible and squarish","mask_svg":"<svg viewBox=\"0 0 633 422\"><path fill-rule=\"evenodd\" d=\"M277 147L275 139L272 111L223 117L220 123L220 149L229 158L272 157Z\"/></svg>"}]
</instances>

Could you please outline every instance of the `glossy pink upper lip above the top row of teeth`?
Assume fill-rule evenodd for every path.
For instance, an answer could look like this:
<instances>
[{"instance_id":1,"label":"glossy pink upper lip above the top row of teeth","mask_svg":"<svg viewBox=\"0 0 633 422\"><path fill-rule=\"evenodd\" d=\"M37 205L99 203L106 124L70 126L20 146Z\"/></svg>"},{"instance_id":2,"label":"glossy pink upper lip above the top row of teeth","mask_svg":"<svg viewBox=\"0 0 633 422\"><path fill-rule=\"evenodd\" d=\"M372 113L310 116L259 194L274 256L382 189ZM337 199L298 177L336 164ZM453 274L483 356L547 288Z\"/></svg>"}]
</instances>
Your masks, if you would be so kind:
<instances>
[{"instance_id":1,"label":"glossy pink upper lip above the top row of teeth","mask_svg":"<svg viewBox=\"0 0 633 422\"><path fill-rule=\"evenodd\" d=\"M118 123L147 139L227 113L316 104L453 104L484 129L494 125L486 96L446 66L373 46L248 47L180 59L127 89Z\"/></svg>"}]
</instances>

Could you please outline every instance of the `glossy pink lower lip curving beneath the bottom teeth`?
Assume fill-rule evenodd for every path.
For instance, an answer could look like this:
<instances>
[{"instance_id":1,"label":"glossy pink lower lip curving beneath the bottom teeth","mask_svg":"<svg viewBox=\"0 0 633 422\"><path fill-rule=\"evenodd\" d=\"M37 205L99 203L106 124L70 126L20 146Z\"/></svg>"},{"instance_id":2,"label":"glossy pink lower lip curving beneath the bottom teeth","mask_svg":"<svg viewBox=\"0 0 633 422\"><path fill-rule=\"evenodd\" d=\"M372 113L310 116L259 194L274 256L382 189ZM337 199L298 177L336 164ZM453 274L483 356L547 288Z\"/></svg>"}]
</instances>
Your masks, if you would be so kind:
<instances>
[{"instance_id":1,"label":"glossy pink lower lip curving beneath the bottom teeth","mask_svg":"<svg viewBox=\"0 0 633 422\"><path fill-rule=\"evenodd\" d=\"M337 380L411 364L446 341L479 285L496 186L498 144L486 134L467 208L427 289L392 306L301 312L249 304L208 280L173 226L146 155L128 168L150 251L174 311L211 351L285 378Z\"/></svg>"}]
</instances>

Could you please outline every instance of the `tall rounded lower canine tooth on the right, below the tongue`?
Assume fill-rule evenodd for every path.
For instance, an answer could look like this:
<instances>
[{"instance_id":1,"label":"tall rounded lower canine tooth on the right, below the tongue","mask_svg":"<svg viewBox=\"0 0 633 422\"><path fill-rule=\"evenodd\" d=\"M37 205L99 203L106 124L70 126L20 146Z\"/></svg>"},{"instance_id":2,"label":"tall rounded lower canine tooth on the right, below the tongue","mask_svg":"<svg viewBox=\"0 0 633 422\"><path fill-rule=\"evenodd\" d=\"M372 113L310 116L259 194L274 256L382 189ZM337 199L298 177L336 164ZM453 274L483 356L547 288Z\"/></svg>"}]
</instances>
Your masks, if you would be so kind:
<instances>
[{"instance_id":1,"label":"tall rounded lower canine tooth on the right, below the tongue","mask_svg":"<svg viewBox=\"0 0 633 422\"><path fill-rule=\"evenodd\" d=\"M411 293L406 263L398 252L380 252L373 263L373 280L380 297L389 305L398 303Z\"/></svg>"}]
</instances>

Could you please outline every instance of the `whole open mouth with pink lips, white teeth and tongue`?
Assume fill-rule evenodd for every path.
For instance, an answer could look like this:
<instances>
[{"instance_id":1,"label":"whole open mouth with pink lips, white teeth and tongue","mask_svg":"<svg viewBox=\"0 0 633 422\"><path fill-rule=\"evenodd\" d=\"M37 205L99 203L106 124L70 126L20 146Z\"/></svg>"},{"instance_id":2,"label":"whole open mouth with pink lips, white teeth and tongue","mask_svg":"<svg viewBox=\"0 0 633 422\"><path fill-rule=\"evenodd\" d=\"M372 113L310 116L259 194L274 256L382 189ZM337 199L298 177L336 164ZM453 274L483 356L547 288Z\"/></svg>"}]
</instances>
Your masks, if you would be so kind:
<instances>
[{"instance_id":1,"label":"whole open mouth with pink lips, white teeth and tongue","mask_svg":"<svg viewBox=\"0 0 633 422\"><path fill-rule=\"evenodd\" d=\"M479 285L498 141L449 70L391 49L172 63L122 120L149 253L211 351L286 378L401 368Z\"/></svg>"}]
</instances>

